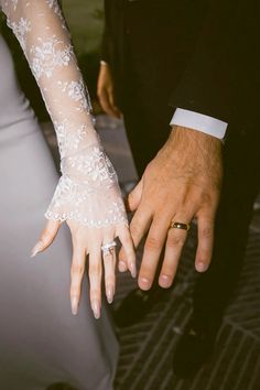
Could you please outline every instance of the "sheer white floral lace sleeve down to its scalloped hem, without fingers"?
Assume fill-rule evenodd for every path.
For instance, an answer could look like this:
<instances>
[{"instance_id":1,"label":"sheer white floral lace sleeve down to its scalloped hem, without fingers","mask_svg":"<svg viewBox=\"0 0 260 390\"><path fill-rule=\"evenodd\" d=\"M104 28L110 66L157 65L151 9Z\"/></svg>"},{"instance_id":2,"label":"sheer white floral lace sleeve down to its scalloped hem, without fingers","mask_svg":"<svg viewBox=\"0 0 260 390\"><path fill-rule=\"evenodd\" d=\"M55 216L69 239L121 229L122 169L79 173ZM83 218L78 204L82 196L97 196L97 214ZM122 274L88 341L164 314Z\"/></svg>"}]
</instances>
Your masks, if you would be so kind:
<instances>
[{"instance_id":1,"label":"sheer white floral lace sleeve down to its scalloped hem, without fingers","mask_svg":"<svg viewBox=\"0 0 260 390\"><path fill-rule=\"evenodd\" d=\"M0 0L52 118L62 177L46 218L127 223L116 172L94 129L87 88L56 0Z\"/></svg>"}]
</instances>

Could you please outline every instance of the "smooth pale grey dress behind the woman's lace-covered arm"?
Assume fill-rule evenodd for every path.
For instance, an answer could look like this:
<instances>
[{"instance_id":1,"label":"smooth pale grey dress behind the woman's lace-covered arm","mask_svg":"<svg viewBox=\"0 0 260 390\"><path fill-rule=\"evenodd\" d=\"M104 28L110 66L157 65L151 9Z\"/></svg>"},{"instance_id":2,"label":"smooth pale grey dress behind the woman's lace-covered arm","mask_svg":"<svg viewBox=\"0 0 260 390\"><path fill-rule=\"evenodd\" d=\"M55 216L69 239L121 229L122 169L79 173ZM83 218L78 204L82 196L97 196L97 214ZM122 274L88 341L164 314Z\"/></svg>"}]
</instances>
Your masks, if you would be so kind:
<instances>
[{"instance_id":1,"label":"smooth pale grey dress behind the woman's lace-covered arm","mask_svg":"<svg viewBox=\"0 0 260 390\"><path fill-rule=\"evenodd\" d=\"M43 390L69 382L110 390L118 344L106 310L93 316L84 281L79 314L71 314L71 236L59 230L36 258L30 250L44 226L57 183L52 156L19 90L0 36L0 389Z\"/></svg>"}]
</instances>

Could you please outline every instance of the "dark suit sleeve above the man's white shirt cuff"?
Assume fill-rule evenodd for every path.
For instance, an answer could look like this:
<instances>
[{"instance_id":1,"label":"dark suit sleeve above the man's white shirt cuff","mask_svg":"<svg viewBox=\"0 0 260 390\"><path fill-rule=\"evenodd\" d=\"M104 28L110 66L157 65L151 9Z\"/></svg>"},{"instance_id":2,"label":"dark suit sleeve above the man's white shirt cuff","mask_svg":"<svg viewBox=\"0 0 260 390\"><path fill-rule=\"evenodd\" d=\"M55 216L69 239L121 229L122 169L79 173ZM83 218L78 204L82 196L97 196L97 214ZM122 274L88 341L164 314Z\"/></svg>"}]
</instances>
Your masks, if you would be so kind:
<instances>
[{"instance_id":1,"label":"dark suit sleeve above the man's white shirt cuff","mask_svg":"<svg viewBox=\"0 0 260 390\"><path fill-rule=\"evenodd\" d=\"M253 31L250 3L215 2L197 41L196 50L170 105L230 123L246 102ZM249 9L248 9L249 7ZM246 12L246 13L245 13Z\"/></svg>"}]
</instances>

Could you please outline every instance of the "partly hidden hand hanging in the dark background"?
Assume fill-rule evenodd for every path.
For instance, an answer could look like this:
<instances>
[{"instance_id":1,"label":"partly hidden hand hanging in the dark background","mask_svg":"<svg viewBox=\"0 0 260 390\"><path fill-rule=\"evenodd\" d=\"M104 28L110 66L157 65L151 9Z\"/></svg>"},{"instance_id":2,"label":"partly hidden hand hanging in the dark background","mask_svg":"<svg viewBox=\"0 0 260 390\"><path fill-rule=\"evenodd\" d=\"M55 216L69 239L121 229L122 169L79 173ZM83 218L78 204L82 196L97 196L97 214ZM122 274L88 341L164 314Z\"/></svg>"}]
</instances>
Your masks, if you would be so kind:
<instances>
[{"instance_id":1,"label":"partly hidden hand hanging in the dark background","mask_svg":"<svg viewBox=\"0 0 260 390\"><path fill-rule=\"evenodd\" d=\"M97 96L104 111L116 118L121 118L122 113L115 105L113 97L113 83L112 76L108 64L100 64L98 83L97 83Z\"/></svg>"}]
</instances>

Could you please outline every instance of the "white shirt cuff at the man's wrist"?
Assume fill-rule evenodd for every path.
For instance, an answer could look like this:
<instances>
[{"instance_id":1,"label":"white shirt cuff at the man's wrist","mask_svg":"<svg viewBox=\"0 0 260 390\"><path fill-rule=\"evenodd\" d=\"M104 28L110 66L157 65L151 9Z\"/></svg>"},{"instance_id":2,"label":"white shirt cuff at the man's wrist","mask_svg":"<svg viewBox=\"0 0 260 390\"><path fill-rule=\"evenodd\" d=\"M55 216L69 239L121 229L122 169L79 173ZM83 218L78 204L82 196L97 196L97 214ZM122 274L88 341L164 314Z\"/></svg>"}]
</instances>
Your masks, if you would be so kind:
<instances>
[{"instance_id":1,"label":"white shirt cuff at the man's wrist","mask_svg":"<svg viewBox=\"0 0 260 390\"><path fill-rule=\"evenodd\" d=\"M170 124L182 126L184 128L202 131L220 140L224 139L228 127L228 123L219 119L212 118L203 113L184 110L183 108L176 109Z\"/></svg>"}]
</instances>

